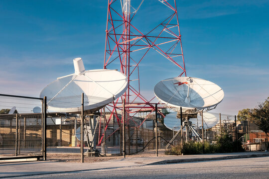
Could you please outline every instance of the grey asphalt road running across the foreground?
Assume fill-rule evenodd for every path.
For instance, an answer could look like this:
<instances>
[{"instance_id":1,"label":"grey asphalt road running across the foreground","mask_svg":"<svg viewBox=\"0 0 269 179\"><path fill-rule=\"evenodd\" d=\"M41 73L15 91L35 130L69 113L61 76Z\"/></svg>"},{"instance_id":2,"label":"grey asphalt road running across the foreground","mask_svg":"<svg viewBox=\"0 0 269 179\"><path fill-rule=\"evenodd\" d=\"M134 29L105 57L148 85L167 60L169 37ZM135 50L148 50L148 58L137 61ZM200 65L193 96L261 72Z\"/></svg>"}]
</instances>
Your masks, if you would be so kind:
<instances>
[{"instance_id":1,"label":"grey asphalt road running across the foreground","mask_svg":"<svg viewBox=\"0 0 269 179\"><path fill-rule=\"evenodd\" d=\"M75 165L75 164L74 164ZM269 157L125 167L24 179L269 179Z\"/></svg>"}]
</instances>

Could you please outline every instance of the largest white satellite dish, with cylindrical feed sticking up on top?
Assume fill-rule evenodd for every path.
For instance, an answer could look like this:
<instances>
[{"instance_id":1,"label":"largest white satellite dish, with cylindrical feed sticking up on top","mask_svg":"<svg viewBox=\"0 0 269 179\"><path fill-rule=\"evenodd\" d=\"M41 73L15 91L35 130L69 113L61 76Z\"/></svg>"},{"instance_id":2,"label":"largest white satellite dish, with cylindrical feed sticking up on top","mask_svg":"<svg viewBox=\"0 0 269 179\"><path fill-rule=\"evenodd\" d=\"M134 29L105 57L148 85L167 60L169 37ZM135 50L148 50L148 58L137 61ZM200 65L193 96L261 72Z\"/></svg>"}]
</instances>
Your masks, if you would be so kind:
<instances>
[{"instance_id":1,"label":"largest white satellite dish, with cylindrical feed sticking up on top","mask_svg":"<svg viewBox=\"0 0 269 179\"><path fill-rule=\"evenodd\" d=\"M84 110L95 112L120 97L127 89L128 79L117 70L85 71L81 58L73 60L75 73L57 78L45 87L40 97L47 96L48 109L59 112L81 111L81 93Z\"/></svg>"}]
</instances>

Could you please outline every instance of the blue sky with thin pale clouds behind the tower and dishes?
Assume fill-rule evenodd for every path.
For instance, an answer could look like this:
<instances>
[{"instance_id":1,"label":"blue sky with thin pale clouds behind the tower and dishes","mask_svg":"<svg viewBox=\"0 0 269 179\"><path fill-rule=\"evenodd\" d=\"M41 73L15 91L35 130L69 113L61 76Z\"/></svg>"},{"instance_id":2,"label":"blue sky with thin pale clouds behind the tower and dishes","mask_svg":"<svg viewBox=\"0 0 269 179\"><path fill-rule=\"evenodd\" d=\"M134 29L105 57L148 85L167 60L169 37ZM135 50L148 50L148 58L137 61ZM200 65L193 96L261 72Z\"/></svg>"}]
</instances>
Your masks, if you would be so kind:
<instances>
[{"instance_id":1,"label":"blue sky with thin pale clouds behind the tower and dishes","mask_svg":"<svg viewBox=\"0 0 269 179\"><path fill-rule=\"evenodd\" d=\"M156 20L154 3L160 2L142 4L141 13ZM214 112L235 115L263 102L269 96L269 0L178 0L177 6L187 76L225 92ZM39 96L57 77L73 73L76 57L88 70L102 69L106 18L107 0L1 0L0 93ZM140 67L148 99L156 83L178 76L159 58Z\"/></svg>"}]
</instances>

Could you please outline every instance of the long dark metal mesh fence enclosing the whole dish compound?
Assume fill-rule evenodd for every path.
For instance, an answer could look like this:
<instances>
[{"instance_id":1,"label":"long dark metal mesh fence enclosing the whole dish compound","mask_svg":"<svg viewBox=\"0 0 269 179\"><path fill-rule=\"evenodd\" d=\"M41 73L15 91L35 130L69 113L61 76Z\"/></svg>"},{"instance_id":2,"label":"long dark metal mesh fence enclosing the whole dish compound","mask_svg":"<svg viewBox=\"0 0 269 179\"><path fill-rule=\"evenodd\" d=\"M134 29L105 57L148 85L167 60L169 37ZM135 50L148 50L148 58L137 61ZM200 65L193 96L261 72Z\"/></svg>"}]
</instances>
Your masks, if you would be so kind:
<instances>
[{"instance_id":1,"label":"long dark metal mesh fence enclosing the whole dish compound","mask_svg":"<svg viewBox=\"0 0 269 179\"><path fill-rule=\"evenodd\" d=\"M143 116L126 116L124 130L122 109L114 110L107 105L111 100L82 95L47 99L44 144L44 100L0 94L0 160L42 158L44 152L48 159L83 160L87 157L123 155L124 152L126 155L154 152L156 146L166 149L167 144L181 144L181 133L174 137L177 131L166 128L160 116L155 139L156 116L152 111ZM194 129L202 137L202 129L195 125ZM186 134L184 129L183 133L184 141L186 135L189 140L195 140L191 131ZM257 126L255 128L246 121L238 121L236 128L234 117L229 116L221 120L221 125L219 121L214 127L204 129L204 139L215 143L223 133L245 143L246 150L263 148L262 142L267 137ZM174 140L171 140L173 137ZM260 143L261 147L252 148L250 143Z\"/></svg>"}]
</instances>

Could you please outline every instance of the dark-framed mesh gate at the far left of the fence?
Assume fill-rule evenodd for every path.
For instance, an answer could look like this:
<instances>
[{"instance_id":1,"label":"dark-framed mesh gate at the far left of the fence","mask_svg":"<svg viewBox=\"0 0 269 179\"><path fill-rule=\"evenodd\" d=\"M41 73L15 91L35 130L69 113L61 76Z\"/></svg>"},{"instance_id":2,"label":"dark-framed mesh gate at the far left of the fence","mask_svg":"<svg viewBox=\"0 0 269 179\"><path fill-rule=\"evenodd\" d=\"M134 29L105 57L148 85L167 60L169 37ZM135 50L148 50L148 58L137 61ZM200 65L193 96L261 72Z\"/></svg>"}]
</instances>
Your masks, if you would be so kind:
<instances>
[{"instance_id":1,"label":"dark-framed mesh gate at the far left of the fence","mask_svg":"<svg viewBox=\"0 0 269 179\"><path fill-rule=\"evenodd\" d=\"M44 158L44 99L0 94L0 160Z\"/></svg>"}]
</instances>

